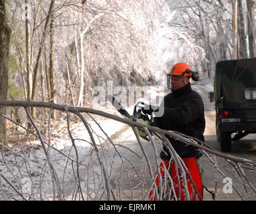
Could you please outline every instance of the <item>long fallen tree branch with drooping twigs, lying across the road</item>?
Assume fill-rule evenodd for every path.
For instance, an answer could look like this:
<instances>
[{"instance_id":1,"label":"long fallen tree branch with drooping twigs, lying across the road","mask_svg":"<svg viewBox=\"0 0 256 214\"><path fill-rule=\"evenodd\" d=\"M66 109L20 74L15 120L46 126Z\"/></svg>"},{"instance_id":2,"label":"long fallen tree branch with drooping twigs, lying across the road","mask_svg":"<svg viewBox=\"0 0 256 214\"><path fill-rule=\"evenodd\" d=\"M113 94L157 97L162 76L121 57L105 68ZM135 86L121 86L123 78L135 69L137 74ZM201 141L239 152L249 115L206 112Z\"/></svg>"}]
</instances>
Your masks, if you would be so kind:
<instances>
[{"instance_id":1,"label":"long fallen tree branch with drooping twigs, lying across the road","mask_svg":"<svg viewBox=\"0 0 256 214\"><path fill-rule=\"evenodd\" d=\"M176 193L174 192L174 183L172 181L172 177L170 175L170 166L168 169L166 169L165 165L164 167L160 167L160 162L162 161L159 157L159 154L157 154L157 146L160 146L160 144L165 144L168 149L170 150L170 153L172 154L172 160L176 163L176 171L180 171L181 177L178 178L178 185L180 187L180 194L181 191L184 191L186 200L190 199L190 193L188 191L188 185L187 185L187 179L190 179L192 182L193 187L195 187L192 177L190 175L190 172L188 172L188 169L186 169L186 165L184 165L182 158L178 156L174 148L172 147L172 144L168 140L169 137L174 138L175 140L180 140L182 142L185 142L186 144L190 144L204 152L206 154L206 158L210 160L210 164L214 166L215 169L215 175L216 175L216 181L215 181L215 195L217 190L217 174L220 173L222 177L226 177L225 174L219 169L219 167L226 167L228 170L230 170L236 177L238 177L241 181L241 186L243 187L242 193L239 193L239 190L234 187L235 191L238 193L238 195L241 197L241 199L254 199L255 198L255 187L253 187L253 183L247 179L245 174L245 169L247 171L254 171L256 172L256 164L253 163L253 161L248 160L246 158L239 158L236 156L231 156L229 154L225 154L222 152L218 152L217 150L214 150L214 148L211 148L204 142L200 142L199 140L195 138L191 138L190 136L186 136L179 132L172 132L170 130L162 130L157 127L148 126L145 124L141 124L139 122L134 122L132 120L121 118L120 116L115 116L113 114L109 114L107 112L103 112L100 110L94 110L91 108L79 108L79 107L73 107L73 106L67 106L67 105L60 105L60 104L52 104L48 102L25 102L25 101L5 101L0 100L0 106L22 106L25 108L25 112L27 114L27 117L29 118L29 121L31 122L32 126L34 126L36 130L36 134L33 132L30 132L25 127L21 126L21 124L18 124L14 120L11 120L10 118L7 118L6 116L0 114L0 116L3 116L4 118L7 118L9 121L13 122L16 126L20 126L27 132L27 140L29 140L29 145L31 146L34 156L36 157L36 160L39 164L39 167L41 169L41 175L40 175L40 181L39 181L39 190L36 187L36 182L32 181L34 178L30 171L30 166L33 163L33 160L29 158L29 153L27 154L27 150L23 150L21 141L19 139L19 132L16 128L17 137L20 142L21 146L21 154L19 154L19 151L16 150L16 148L9 148L9 146L3 146L3 144L0 144L1 147L6 148L6 150L10 151L9 153L14 156L15 158L15 167L17 169L17 172L13 172L13 165L11 165L11 160L8 156L10 154L5 154L4 152L1 152L1 155L3 156L3 161L5 165L5 170L7 173L10 173L11 176L5 176L5 181L8 183L8 185L11 186L16 193L18 193L19 196L21 196L22 199L25 199L22 192L20 192L15 185L11 183L11 180L9 179L15 179L17 183L19 183L19 186L21 186L21 183L19 182L19 179L24 177L27 177L31 180L31 183L33 183L34 187L36 188L36 193L32 193L29 195L29 199L41 199L48 197L48 193L46 193L43 190L44 186L44 179L47 177L47 173L49 173L49 169L47 169L47 165L50 168L50 175L52 176L52 187L53 187L53 199L60 199L64 200L66 197L72 197L72 199L76 200L77 195L78 199L82 200L90 200L90 199L107 199L107 200L117 200L122 199L122 197L127 197L129 199L136 199L135 198L135 191L137 191L139 188L141 188L141 199L147 199L149 192L153 191L153 197L157 200L163 200L163 199L174 199L178 200ZM27 108L49 108L49 119L48 119L48 139L49 143L47 143L42 136L42 132L34 122L34 120L31 118ZM67 130L68 130L68 136L69 139L72 142L71 148L69 150L69 154L64 154L65 152L60 152L60 150L54 148L54 146L51 145L51 131L50 131L50 115L52 110L59 110L60 112L64 112L66 114L66 120L67 120ZM89 139L82 139L79 137L73 137L73 134L70 130L70 113L75 114L80 118L82 121L82 124L84 124L86 131L88 132L88 138ZM84 116L82 116L82 113L86 113L92 118L92 122L95 122L97 126L100 128L100 131L103 132L103 134L107 137L107 139L104 139L99 132L96 132L94 130L94 127L89 124L87 120L85 120ZM141 150L141 156L139 155L137 150L133 150L129 145L122 146L121 144L113 142L113 139L108 136L107 132L103 130L103 128L100 126L100 124L90 115L95 114L97 116L103 116L105 118L109 118L111 120L116 120L118 122L122 122L124 124L127 124L131 127L133 130L133 134L135 135L135 146L136 148ZM80 122L80 121L77 121ZM152 156L149 156L147 154L147 150L145 149L145 143L141 138L139 137L139 133L137 131L137 128L141 128L142 130L145 130L147 133L147 136L149 136L149 141L151 142L151 152L153 152ZM43 154L46 156L46 160L44 162L44 165L40 163L40 160L38 160L38 157L36 152L34 151L33 142L30 142L31 139L29 139L29 134L33 134L38 138L41 142ZM97 136L94 138L94 134ZM86 136L87 137L87 136ZM90 144L90 152L88 156L86 156L86 159L80 163L80 156L78 153L78 146L76 145L77 140L82 140L84 142L88 142ZM97 140L99 140L99 144L97 144ZM104 140L102 143L101 140ZM90 142L89 142L90 141ZM46 147L47 145L47 147ZM120 146L118 148L118 146ZM40 147L41 148L41 147ZM60 173L60 169L58 169L58 172L54 169L54 163L52 163L52 160L50 160L50 149L54 148L54 150L57 150L59 153L63 156L65 156L66 165L64 165L64 171L62 175L62 187L61 183L58 179L58 176ZM71 156L71 150L74 149L74 155L76 156L76 160L73 160L70 158ZM133 154L134 160L132 158L127 158L122 152L125 150L125 152L129 151L131 154ZM210 158L208 153L214 155L214 160ZM51 152L52 154L52 152ZM223 158L224 160L227 160L229 163L228 166L222 165L222 163L218 164L218 161L216 160L216 156ZM20 157L21 159L19 159ZM17 160L16 160L17 158ZM223 160L222 159L222 160ZM10 160L10 163L9 163ZM18 165L19 160L21 160L21 165L25 165L26 170L25 172L22 171L22 166ZM42 159L41 159L42 160ZM68 160L71 161L71 166L68 165ZM137 169L137 165L135 165L134 161L140 160L141 161L141 169ZM29 162L30 161L30 162ZM32 163L31 163L32 161ZM152 161L152 162L151 162ZM62 161L63 162L63 161ZM247 166L247 167L244 167ZM27 167L28 166L28 167ZM43 166L43 167L42 167ZM84 166L84 169L82 171L82 166ZM249 166L249 167L248 167ZM117 168L116 168L117 167ZM143 168L145 167L145 168ZM123 170L125 170L126 176L123 176ZM153 172L155 170L155 173ZM82 171L82 173L81 173ZM155 184L155 179L157 177L162 177L161 173L164 171L164 177L163 179L159 179L159 186L157 187ZM66 182L70 183L68 187L68 191L66 191L64 195L64 181L65 176L68 174L68 172L71 172L71 179ZM17 173L20 175L20 177L17 175ZM2 174L3 175L3 174ZM187 176L186 176L187 175ZM147 177L147 179L145 179ZM73 180L72 180L73 179ZM148 181L146 181L148 180ZM136 181L136 182L135 182ZM182 181L184 188L181 189L180 181ZM65 185L66 185L65 183ZM123 185L126 183L126 188L123 189ZM57 192L58 195L55 195L54 189L55 185L57 186ZM66 188L66 187L65 187ZM251 191L251 189L252 191ZM144 192L145 191L145 192ZM171 194L173 193L172 197ZM201 196L199 195L198 191L195 189L196 196L198 195L199 198ZM169 195L168 195L169 194ZM192 194L192 193L191 193ZM137 194L136 194L137 195ZM130 197L131 196L131 197ZM215 199L215 198L214 198Z\"/></svg>"}]
</instances>

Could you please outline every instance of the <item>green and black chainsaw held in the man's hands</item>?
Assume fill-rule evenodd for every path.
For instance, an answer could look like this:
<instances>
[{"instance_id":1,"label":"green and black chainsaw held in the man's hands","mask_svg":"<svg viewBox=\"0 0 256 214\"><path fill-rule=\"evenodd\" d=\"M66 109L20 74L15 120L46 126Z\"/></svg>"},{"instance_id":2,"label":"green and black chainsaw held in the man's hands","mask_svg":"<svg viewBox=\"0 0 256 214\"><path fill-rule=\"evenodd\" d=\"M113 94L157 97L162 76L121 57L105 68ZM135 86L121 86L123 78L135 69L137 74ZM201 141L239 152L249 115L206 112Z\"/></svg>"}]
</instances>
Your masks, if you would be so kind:
<instances>
[{"instance_id":1,"label":"green and black chainsaw held in the man's hands","mask_svg":"<svg viewBox=\"0 0 256 214\"><path fill-rule=\"evenodd\" d=\"M125 110L125 108L117 101L117 99L114 96L109 95L108 100L109 100L109 102L111 102L111 104L113 104L113 106L117 109L117 111L120 114L122 114L129 120L133 120L135 122L139 122L139 123L151 126L151 124L153 122L153 112L151 113L150 118L149 118L149 115L143 114L142 109L145 107L144 102L137 102L137 104L135 104L134 109L133 109L133 115L131 116L127 112L127 110ZM146 132L143 129L137 128L137 130L138 130L139 136L141 136L141 138L149 141L149 137L147 136Z\"/></svg>"}]
</instances>

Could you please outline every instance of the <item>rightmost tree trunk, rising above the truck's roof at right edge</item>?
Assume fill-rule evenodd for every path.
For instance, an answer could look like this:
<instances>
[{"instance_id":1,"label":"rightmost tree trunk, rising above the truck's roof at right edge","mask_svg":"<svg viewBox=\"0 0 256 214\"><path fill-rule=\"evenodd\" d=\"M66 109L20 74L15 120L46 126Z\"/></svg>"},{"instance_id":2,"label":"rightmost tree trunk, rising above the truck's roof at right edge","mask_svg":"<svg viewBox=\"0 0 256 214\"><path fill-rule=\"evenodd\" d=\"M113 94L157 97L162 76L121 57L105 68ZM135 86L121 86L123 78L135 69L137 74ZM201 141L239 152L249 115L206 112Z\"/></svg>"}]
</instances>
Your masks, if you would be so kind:
<instances>
[{"instance_id":1,"label":"rightmost tree trunk, rising above the truck's roof at right edge","mask_svg":"<svg viewBox=\"0 0 256 214\"><path fill-rule=\"evenodd\" d=\"M255 58L255 25L254 25L254 9L255 9L255 1L247 0L247 31L248 31L248 39L249 39L249 57Z\"/></svg>"}]
</instances>

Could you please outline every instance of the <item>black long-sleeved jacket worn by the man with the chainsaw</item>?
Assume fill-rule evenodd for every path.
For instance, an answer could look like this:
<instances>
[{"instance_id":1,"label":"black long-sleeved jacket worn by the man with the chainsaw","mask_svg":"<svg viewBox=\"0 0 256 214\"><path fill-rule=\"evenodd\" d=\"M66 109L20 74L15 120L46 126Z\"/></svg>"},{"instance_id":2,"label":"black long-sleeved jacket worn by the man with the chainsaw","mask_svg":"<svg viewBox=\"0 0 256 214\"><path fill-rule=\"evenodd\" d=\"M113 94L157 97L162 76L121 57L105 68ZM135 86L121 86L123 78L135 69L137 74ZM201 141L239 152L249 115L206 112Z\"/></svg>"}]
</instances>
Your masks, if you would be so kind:
<instances>
[{"instance_id":1,"label":"black long-sleeved jacket worn by the man with the chainsaw","mask_svg":"<svg viewBox=\"0 0 256 214\"><path fill-rule=\"evenodd\" d=\"M172 90L172 93L164 97L164 115L155 117L153 126L181 132L204 142L204 104L201 96L192 90L190 83L178 90ZM168 139L181 158L197 157L194 146L169 136ZM165 145L160 156L170 160L171 155Z\"/></svg>"}]
</instances>

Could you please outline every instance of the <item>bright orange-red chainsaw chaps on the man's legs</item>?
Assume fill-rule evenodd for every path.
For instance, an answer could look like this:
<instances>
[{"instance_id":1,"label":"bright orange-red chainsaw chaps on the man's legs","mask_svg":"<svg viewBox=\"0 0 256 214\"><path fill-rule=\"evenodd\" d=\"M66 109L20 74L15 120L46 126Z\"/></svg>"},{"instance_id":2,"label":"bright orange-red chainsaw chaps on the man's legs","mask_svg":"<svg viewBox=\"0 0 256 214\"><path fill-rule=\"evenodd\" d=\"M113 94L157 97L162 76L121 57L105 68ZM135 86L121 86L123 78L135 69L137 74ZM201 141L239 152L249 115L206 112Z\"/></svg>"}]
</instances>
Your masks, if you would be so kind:
<instances>
[{"instance_id":1,"label":"bright orange-red chainsaw chaps on the man's legs","mask_svg":"<svg viewBox=\"0 0 256 214\"><path fill-rule=\"evenodd\" d=\"M160 173L162 177L164 177L165 170L164 168L168 169L169 161L162 159L163 162L160 164ZM186 175L186 182L188 185L188 192L190 195L190 201L201 201L203 197L203 187L202 187L202 179L200 175L200 171L198 168L198 164L196 162L196 158L183 158L182 159L190 172L190 176L192 178L192 181L196 187L196 190L194 189L194 186L192 185L192 182L190 181L188 175ZM164 166L165 165L165 166ZM172 177L172 182L174 185L174 191L177 197L178 201L185 201L186 200L186 194L185 194L185 189L184 189L184 184L183 184L183 179L181 177L181 172L179 167L176 165L174 161L171 162L170 164L170 175ZM159 178L158 176L155 179L155 185L158 187L159 186ZM155 196L153 196L153 191L154 189L151 189L149 193L149 200L155 201ZM174 197L174 200L176 201L176 198Z\"/></svg>"}]
</instances>

